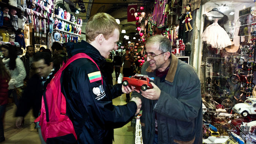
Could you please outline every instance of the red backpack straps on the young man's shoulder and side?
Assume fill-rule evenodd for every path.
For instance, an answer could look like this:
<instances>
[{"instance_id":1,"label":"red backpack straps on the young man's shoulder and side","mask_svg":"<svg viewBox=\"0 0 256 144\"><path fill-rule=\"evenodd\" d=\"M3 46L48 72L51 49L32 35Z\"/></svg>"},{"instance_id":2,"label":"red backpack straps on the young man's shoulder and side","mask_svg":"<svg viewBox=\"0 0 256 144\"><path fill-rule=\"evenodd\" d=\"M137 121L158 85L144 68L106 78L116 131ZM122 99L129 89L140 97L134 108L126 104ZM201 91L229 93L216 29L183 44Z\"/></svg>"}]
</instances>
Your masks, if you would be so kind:
<instances>
[{"instance_id":1,"label":"red backpack straps on the young man's shoulder and side","mask_svg":"<svg viewBox=\"0 0 256 144\"><path fill-rule=\"evenodd\" d=\"M90 59L97 66L97 68L99 69L99 66L96 64L96 62L90 56L86 55L85 53L78 53L78 54L72 56L66 62L66 64L62 66L63 68L61 68L61 70L63 71L71 62L73 62L73 61L75 61L76 59L79 59L79 58ZM99 69L99 71L100 71L100 69ZM102 75L101 75L101 83L103 85ZM66 115L66 99L65 99L65 96L62 94L61 95L61 115L60 115L61 120L63 120L65 115Z\"/></svg>"}]
</instances>

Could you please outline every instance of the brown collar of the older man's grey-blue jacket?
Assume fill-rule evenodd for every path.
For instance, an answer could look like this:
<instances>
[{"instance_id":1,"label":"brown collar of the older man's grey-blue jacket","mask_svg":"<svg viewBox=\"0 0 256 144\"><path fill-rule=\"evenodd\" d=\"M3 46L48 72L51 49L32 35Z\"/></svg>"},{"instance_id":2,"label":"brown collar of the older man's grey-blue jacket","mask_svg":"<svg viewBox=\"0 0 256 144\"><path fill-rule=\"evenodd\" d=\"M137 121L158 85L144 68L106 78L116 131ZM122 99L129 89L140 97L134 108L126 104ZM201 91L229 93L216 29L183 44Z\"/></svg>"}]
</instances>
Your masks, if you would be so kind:
<instances>
[{"instance_id":1,"label":"brown collar of the older man's grey-blue jacket","mask_svg":"<svg viewBox=\"0 0 256 144\"><path fill-rule=\"evenodd\" d=\"M169 82L173 82L174 80L174 76L177 70L177 66L178 66L178 58L172 54L172 58L171 58L171 66L169 68L169 71L167 73L167 76L165 77L165 80L169 81ZM149 66L146 69L146 72L148 73L153 73L154 70L152 70Z\"/></svg>"}]
</instances>

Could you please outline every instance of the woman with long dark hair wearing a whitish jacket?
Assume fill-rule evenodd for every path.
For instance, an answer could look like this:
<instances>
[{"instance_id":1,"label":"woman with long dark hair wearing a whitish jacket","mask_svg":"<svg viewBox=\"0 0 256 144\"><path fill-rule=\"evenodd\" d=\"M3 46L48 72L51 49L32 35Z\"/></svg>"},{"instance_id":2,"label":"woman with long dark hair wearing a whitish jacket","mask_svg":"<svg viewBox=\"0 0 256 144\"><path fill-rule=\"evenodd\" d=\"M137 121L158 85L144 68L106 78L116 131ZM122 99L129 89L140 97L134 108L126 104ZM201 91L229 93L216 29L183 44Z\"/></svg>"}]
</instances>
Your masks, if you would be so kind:
<instances>
[{"instance_id":1,"label":"woman with long dark hair wearing a whitish jacket","mask_svg":"<svg viewBox=\"0 0 256 144\"><path fill-rule=\"evenodd\" d=\"M11 74L11 79L8 83L9 95L13 95L14 103L18 105L18 95L17 92L21 92L21 86L24 85L24 79L26 77L26 70L24 68L23 62L18 58L15 53L14 47L11 44L3 44L0 46L3 52L3 64L5 64L6 69Z\"/></svg>"}]
</instances>

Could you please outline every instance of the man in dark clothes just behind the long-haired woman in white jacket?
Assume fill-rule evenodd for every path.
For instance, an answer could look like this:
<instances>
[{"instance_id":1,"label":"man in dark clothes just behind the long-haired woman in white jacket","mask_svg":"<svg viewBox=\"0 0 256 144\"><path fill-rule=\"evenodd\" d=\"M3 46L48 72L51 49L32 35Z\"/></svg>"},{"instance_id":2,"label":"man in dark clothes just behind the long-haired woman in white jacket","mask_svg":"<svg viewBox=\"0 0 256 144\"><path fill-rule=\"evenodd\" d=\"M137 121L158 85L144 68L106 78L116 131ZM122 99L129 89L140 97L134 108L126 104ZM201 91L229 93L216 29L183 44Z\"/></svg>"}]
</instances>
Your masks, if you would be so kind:
<instances>
[{"instance_id":1,"label":"man in dark clothes just behind the long-haired woman in white jacket","mask_svg":"<svg viewBox=\"0 0 256 144\"><path fill-rule=\"evenodd\" d=\"M22 56L20 59L23 61L25 70L26 70L26 77L25 81L27 81L30 77L34 75L34 70L32 69L32 62L33 62L33 56L35 54L35 48L33 45L29 45L26 47L26 55Z\"/></svg>"}]
</instances>

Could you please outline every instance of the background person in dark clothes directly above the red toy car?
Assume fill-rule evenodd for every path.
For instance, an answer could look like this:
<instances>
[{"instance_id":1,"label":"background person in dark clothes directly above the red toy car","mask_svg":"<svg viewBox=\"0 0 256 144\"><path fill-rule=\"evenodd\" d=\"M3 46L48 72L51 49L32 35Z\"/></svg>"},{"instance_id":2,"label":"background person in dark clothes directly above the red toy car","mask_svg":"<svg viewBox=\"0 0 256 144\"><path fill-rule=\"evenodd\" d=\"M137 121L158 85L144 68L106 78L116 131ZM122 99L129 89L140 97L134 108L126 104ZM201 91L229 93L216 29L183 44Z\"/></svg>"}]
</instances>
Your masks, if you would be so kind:
<instances>
[{"instance_id":1,"label":"background person in dark clothes directly above the red toy car","mask_svg":"<svg viewBox=\"0 0 256 144\"><path fill-rule=\"evenodd\" d=\"M131 64L134 62L133 55L129 53L129 49L125 49L125 55L122 56L123 77L133 76ZM130 94L126 94L126 103L130 101Z\"/></svg>"}]
</instances>

